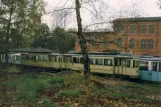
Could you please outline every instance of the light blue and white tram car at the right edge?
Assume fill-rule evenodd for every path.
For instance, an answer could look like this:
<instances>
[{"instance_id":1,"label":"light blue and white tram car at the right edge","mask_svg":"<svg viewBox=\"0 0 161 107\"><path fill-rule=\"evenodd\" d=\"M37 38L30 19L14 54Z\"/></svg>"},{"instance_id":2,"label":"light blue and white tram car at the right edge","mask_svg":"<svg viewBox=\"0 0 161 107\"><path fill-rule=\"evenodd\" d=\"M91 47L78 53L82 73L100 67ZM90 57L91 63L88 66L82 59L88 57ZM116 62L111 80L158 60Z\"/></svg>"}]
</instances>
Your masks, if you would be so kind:
<instances>
[{"instance_id":1,"label":"light blue and white tram car at the right edge","mask_svg":"<svg viewBox=\"0 0 161 107\"><path fill-rule=\"evenodd\" d=\"M140 79L161 82L161 58L140 58Z\"/></svg>"}]
</instances>

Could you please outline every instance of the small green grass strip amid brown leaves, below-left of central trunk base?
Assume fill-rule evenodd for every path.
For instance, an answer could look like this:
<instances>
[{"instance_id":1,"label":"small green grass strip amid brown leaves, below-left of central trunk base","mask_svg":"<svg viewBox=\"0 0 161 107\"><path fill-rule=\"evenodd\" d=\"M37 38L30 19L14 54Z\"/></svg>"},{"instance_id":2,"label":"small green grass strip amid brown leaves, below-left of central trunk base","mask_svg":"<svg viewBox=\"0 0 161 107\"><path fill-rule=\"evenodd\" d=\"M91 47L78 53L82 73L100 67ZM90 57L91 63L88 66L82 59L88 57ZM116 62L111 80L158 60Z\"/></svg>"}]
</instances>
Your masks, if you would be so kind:
<instances>
[{"instance_id":1,"label":"small green grass strip amid brown leaves, below-left of central trunk base","mask_svg":"<svg viewBox=\"0 0 161 107\"><path fill-rule=\"evenodd\" d=\"M57 95L58 96L65 96L65 97L79 97L81 92L82 92L82 89L71 90L71 91L60 90Z\"/></svg>"}]
</instances>

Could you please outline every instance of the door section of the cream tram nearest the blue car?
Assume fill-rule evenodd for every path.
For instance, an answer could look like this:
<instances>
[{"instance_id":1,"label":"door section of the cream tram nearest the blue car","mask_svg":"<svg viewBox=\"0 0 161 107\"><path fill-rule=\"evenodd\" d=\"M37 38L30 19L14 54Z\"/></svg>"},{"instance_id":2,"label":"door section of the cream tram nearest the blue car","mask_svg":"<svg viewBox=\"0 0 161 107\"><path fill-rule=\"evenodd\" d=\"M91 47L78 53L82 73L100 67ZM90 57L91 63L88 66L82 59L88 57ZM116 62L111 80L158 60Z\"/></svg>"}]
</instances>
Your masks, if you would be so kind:
<instances>
[{"instance_id":1,"label":"door section of the cream tram nearest the blue car","mask_svg":"<svg viewBox=\"0 0 161 107\"><path fill-rule=\"evenodd\" d=\"M125 74L126 73L126 59L115 59L115 74Z\"/></svg>"}]
</instances>

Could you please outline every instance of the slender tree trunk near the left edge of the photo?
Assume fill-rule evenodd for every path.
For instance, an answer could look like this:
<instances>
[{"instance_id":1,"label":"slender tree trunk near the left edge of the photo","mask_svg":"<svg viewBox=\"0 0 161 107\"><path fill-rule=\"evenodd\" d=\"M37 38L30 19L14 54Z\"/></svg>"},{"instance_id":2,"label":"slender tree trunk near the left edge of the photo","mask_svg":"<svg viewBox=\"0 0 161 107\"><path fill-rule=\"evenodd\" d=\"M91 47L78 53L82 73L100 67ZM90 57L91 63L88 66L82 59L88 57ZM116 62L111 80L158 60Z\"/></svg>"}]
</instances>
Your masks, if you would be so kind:
<instances>
[{"instance_id":1,"label":"slender tree trunk near the left edge of the photo","mask_svg":"<svg viewBox=\"0 0 161 107\"><path fill-rule=\"evenodd\" d=\"M5 60L6 64L9 65L9 57L8 57L8 51L9 51L9 36L10 36L10 28L11 28L11 20L12 20L12 15L13 15L13 8L14 8L14 1L12 1L10 12L9 12L9 20L7 23L7 31L6 31L6 41L5 41Z\"/></svg>"}]
</instances>

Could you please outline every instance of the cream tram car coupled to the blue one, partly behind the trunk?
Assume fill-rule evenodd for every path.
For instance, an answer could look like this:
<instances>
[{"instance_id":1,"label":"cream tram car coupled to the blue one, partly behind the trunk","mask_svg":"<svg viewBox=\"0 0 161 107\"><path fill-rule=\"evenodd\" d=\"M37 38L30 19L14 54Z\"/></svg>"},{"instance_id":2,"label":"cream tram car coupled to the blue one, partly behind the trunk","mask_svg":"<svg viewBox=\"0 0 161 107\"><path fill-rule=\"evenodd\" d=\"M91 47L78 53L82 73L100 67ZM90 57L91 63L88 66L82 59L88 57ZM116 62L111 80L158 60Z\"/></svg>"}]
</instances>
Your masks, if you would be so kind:
<instances>
[{"instance_id":1,"label":"cream tram car coupled to the blue one, partly behind the trunk","mask_svg":"<svg viewBox=\"0 0 161 107\"><path fill-rule=\"evenodd\" d=\"M119 55L89 55L90 72L139 77L139 58ZM72 70L83 70L82 55L72 55Z\"/></svg>"}]
</instances>

